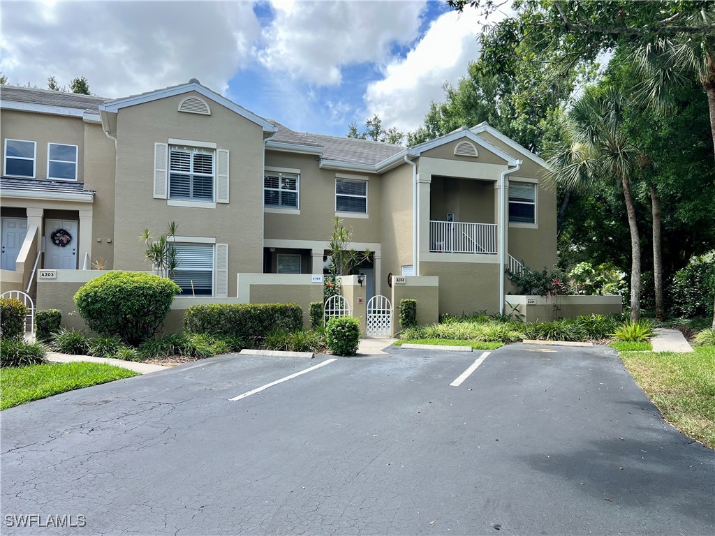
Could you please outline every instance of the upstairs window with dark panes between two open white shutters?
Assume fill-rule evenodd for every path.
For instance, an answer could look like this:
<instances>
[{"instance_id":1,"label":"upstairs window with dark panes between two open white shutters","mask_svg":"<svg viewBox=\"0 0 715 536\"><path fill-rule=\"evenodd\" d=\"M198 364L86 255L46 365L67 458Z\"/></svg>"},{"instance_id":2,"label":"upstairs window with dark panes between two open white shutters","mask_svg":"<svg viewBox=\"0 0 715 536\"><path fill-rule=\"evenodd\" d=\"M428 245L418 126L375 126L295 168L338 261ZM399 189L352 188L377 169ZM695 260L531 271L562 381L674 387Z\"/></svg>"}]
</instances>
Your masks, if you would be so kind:
<instances>
[{"instance_id":1,"label":"upstairs window with dark panes between two open white shutters","mask_svg":"<svg viewBox=\"0 0 715 536\"><path fill-rule=\"evenodd\" d=\"M215 151L169 147L169 199L213 202Z\"/></svg>"}]
</instances>

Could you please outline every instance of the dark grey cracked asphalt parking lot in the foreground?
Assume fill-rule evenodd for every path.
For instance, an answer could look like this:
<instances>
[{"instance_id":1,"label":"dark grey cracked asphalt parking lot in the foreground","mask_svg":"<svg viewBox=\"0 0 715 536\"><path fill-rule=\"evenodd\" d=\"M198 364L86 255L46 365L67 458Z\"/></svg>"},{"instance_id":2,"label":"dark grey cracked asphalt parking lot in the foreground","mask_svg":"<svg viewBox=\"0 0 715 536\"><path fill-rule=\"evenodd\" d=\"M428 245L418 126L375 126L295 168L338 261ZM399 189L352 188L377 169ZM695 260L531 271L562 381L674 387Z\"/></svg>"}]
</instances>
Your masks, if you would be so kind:
<instances>
[{"instance_id":1,"label":"dark grey cracked asphalt parking lot in the foreground","mask_svg":"<svg viewBox=\"0 0 715 536\"><path fill-rule=\"evenodd\" d=\"M513 344L450 385L481 354L217 357L11 408L2 533L714 534L715 451L616 352Z\"/></svg>"}]
</instances>

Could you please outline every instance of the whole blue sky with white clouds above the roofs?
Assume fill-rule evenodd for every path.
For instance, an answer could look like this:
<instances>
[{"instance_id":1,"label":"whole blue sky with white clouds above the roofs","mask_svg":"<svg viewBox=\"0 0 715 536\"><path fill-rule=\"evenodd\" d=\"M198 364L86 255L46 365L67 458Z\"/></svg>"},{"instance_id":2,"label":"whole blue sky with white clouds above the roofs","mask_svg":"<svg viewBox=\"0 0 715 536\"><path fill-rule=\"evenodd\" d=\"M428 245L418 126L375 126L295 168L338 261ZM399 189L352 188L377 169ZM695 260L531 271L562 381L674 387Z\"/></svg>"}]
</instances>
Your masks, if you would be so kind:
<instances>
[{"instance_id":1,"label":"whole blue sky with white clouds above the roofs","mask_svg":"<svg viewBox=\"0 0 715 536\"><path fill-rule=\"evenodd\" d=\"M82 74L110 98L195 77L295 130L379 114L407 131L476 58L480 23L436 1L4 1L0 70L39 87Z\"/></svg>"}]
</instances>

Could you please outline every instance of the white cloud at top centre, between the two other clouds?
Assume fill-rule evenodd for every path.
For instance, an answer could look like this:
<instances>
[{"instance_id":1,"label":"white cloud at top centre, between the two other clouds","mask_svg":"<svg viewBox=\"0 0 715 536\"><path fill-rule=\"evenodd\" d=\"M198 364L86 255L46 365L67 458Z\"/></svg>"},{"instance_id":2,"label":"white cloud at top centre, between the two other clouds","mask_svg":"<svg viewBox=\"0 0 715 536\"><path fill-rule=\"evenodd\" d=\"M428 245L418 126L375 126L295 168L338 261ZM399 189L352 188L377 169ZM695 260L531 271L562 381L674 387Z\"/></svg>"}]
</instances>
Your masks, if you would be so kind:
<instances>
[{"instance_id":1,"label":"white cloud at top centre, between the two other clouds","mask_svg":"<svg viewBox=\"0 0 715 536\"><path fill-rule=\"evenodd\" d=\"M256 53L271 71L316 85L342 81L342 66L384 63L393 44L417 37L425 1L274 0L275 19Z\"/></svg>"}]
</instances>

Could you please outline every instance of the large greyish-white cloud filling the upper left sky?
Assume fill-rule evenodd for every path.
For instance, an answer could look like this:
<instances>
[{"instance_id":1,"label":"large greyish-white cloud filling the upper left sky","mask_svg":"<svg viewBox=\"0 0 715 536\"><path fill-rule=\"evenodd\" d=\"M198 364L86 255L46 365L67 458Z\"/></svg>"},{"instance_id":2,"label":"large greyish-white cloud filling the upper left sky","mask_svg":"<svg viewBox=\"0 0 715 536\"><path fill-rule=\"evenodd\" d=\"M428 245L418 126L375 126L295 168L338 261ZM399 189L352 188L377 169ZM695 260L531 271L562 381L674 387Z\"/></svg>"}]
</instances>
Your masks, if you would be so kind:
<instances>
[{"instance_id":1,"label":"large greyish-white cloud filling the upper left sky","mask_svg":"<svg viewBox=\"0 0 715 536\"><path fill-rule=\"evenodd\" d=\"M252 59L260 24L248 2L4 2L0 70L11 84L127 96L199 79L215 91Z\"/></svg>"}]
</instances>

